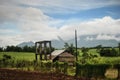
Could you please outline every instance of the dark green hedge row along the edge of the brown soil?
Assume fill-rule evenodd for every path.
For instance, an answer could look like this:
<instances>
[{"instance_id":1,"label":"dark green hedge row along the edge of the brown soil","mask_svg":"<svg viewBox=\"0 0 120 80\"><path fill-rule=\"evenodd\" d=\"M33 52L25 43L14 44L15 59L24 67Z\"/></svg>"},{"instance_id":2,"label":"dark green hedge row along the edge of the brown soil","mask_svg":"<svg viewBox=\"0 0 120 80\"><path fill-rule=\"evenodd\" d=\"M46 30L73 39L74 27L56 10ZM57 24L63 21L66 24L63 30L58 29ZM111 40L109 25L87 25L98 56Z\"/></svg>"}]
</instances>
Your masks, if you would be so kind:
<instances>
[{"instance_id":1,"label":"dark green hedge row along the edge of the brown soil","mask_svg":"<svg viewBox=\"0 0 120 80\"><path fill-rule=\"evenodd\" d=\"M14 53L17 54L17 53ZM25 54L25 53L23 53ZM30 54L30 53L26 53ZM18 55L18 54L17 54ZM23 55L22 55L23 56ZM104 57L105 58L105 57ZM5 59L5 60L4 60ZM101 61L104 60L102 58L93 58L94 61ZM93 60L92 58L90 60ZM97 59L97 60L96 60ZM113 58L111 58L113 59ZM114 58L116 59L116 58ZM110 60L110 59L106 59ZM118 59L116 59L118 60ZM88 60L89 61L89 60ZM92 61L93 62L93 61ZM118 60L119 62L119 60ZM35 61L35 60L27 60L27 59L15 59L13 56L8 55L7 53L2 55L2 58L0 58L0 68L17 68L22 70L34 70L34 71L40 71L40 72L57 72L57 73L64 73L68 74L68 64L63 62L50 62L50 61ZM114 66L114 68L119 70L118 67L119 63L86 63L86 64L80 64L77 63L76 71L77 76L79 77L95 77L96 79L98 77L105 77L105 71L106 69L109 69L110 67ZM73 67L72 67L73 68ZM119 72L119 71L118 71ZM119 72L120 73L120 72ZM70 73L69 73L70 74Z\"/></svg>"}]
</instances>

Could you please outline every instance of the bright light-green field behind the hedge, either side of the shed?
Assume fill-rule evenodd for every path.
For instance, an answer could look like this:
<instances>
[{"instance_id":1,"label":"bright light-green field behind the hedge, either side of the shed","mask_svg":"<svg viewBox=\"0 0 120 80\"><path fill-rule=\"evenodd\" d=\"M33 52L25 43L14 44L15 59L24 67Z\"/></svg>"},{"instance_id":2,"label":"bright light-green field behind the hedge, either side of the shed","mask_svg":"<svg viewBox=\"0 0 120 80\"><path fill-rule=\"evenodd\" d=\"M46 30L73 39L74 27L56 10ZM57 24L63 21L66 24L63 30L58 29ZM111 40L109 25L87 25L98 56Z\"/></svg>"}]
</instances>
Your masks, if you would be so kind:
<instances>
[{"instance_id":1,"label":"bright light-green field behind the hedge, either side of the shed","mask_svg":"<svg viewBox=\"0 0 120 80\"><path fill-rule=\"evenodd\" d=\"M95 49L91 49L89 50L89 53L91 54L97 54ZM10 55L14 60L28 60L28 61L33 61L35 60L35 53L29 53L29 52L0 52L0 59L3 57L3 55ZM79 60L82 59L81 57L82 52L79 50ZM92 58L92 59L88 59L89 63L120 63L120 57L96 57L96 58Z\"/></svg>"}]
</instances>

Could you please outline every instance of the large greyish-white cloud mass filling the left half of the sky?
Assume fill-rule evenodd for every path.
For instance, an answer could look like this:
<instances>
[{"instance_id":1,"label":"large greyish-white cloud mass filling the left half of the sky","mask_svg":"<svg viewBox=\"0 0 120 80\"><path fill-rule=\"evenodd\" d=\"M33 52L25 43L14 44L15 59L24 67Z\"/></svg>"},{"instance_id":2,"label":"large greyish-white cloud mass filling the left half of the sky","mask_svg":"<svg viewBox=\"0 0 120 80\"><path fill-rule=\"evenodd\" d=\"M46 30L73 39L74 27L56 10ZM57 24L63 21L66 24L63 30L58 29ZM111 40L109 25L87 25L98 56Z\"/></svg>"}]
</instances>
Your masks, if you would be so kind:
<instances>
[{"instance_id":1,"label":"large greyish-white cloud mass filling the left half of the sky","mask_svg":"<svg viewBox=\"0 0 120 80\"><path fill-rule=\"evenodd\" d=\"M0 46L53 39L56 35L56 28L49 26L53 19L40 9L6 5L0 5L0 9Z\"/></svg>"}]
</instances>

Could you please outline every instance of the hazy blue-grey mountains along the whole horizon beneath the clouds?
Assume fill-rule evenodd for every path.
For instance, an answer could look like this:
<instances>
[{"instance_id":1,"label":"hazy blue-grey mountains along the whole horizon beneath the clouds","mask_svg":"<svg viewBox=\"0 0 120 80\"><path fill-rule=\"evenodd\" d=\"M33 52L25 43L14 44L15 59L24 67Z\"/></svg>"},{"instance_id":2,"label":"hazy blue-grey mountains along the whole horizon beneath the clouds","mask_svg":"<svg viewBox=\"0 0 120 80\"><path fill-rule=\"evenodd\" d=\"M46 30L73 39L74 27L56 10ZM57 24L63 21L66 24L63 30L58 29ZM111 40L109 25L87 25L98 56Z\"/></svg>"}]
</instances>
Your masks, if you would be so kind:
<instances>
[{"instance_id":1,"label":"hazy blue-grey mountains along the whole horizon beneath the clouds","mask_svg":"<svg viewBox=\"0 0 120 80\"><path fill-rule=\"evenodd\" d=\"M118 46L119 41L116 40L86 40L87 36L81 36L78 39L78 47L95 47L97 45L102 45L105 47L116 47ZM93 37L96 37L96 35L93 35ZM64 48L64 42L61 40L52 40L52 47L57 48L57 49L61 49ZM75 45L75 40L71 39L71 40L67 40L65 41L67 43L72 43L73 45ZM32 41L29 42L22 42L20 44L18 44L17 46L19 47L24 47L24 46L34 46L34 43Z\"/></svg>"}]
</instances>

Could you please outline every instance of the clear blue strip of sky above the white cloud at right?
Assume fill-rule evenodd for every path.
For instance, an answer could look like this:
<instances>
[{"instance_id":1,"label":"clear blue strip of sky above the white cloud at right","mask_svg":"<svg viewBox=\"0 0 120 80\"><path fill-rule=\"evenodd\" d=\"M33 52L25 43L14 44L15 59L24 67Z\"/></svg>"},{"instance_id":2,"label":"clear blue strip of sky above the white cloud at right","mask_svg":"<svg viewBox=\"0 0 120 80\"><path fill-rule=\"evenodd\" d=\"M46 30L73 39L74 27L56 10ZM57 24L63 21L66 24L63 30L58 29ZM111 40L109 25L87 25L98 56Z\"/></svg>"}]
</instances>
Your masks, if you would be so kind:
<instances>
[{"instance_id":1,"label":"clear blue strip of sky above the white cloud at right","mask_svg":"<svg viewBox=\"0 0 120 80\"><path fill-rule=\"evenodd\" d=\"M91 19L91 18L101 18L104 16L111 16L112 18L120 18L120 5L107 6L102 8L90 9L78 11L76 13L70 14L48 14L53 18L59 19L69 19L69 18L79 18L79 19Z\"/></svg>"}]
</instances>

